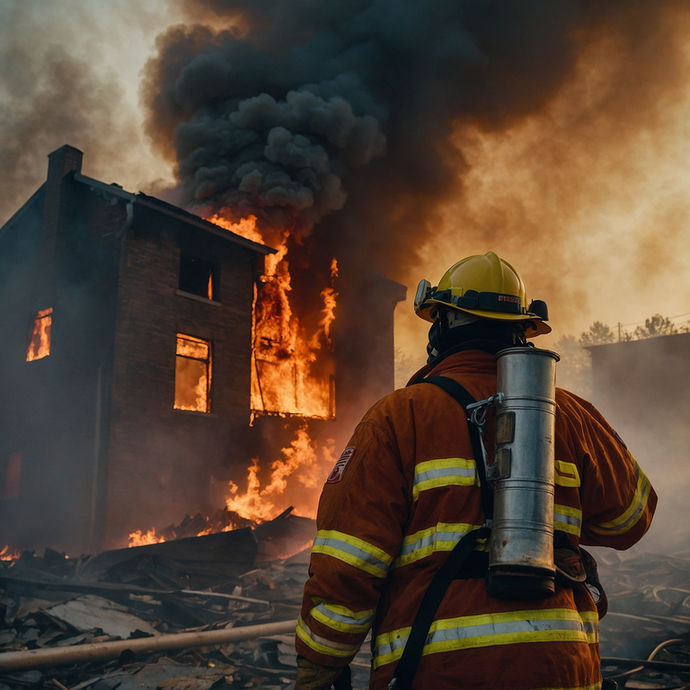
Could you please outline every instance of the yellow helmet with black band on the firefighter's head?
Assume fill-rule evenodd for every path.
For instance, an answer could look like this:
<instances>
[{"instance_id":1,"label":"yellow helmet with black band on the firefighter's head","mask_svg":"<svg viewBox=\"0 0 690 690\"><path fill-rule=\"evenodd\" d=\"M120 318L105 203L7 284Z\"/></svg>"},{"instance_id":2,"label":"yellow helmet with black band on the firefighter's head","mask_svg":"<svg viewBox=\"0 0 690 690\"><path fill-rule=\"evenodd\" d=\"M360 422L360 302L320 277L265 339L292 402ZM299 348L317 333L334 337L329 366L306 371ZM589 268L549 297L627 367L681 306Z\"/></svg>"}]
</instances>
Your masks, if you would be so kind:
<instances>
[{"instance_id":1,"label":"yellow helmet with black band on the firefighter's head","mask_svg":"<svg viewBox=\"0 0 690 690\"><path fill-rule=\"evenodd\" d=\"M546 303L541 300L528 302L518 272L494 252L458 261L445 272L438 287L431 287L428 280L422 280L415 295L415 314L433 322L439 306L482 319L530 321L532 328L527 329L528 337L551 332L551 326L545 323L549 319Z\"/></svg>"}]
</instances>

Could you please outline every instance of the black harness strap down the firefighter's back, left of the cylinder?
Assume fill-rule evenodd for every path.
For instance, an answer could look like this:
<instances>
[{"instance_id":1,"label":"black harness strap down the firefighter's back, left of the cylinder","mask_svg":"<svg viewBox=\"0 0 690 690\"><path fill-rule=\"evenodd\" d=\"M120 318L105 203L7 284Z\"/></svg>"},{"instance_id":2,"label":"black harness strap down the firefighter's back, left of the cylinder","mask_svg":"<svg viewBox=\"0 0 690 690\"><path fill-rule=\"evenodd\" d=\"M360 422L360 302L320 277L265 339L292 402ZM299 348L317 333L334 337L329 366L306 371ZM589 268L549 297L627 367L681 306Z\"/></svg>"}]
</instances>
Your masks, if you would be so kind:
<instances>
[{"instance_id":1,"label":"black harness strap down the firefighter's back, left of the cylinder","mask_svg":"<svg viewBox=\"0 0 690 690\"><path fill-rule=\"evenodd\" d=\"M443 388L446 393L457 400L463 410L465 410L465 413L467 406L476 402L462 385L446 376L431 376L417 383L433 383L439 388ZM469 419L468 428L472 440L474 461L479 474L482 510L484 511L485 519L490 520L493 516L493 494L489 490L486 481L486 467L484 466L484 453L482 451L479 430ZM412 624L402 657L395 667L393 680L391 680L388 686L391 690L409 690L419 666L419 661L422 658L422 651L429 635L429 629L434 622L438 607L441 605L450 583L456 578L460 568L473 553L477 539L488 538L490 533L491 528L485 526L466 534L455 545L446 562L436 571L417 610L417 615Z\"/></svg>"}]
</instances>

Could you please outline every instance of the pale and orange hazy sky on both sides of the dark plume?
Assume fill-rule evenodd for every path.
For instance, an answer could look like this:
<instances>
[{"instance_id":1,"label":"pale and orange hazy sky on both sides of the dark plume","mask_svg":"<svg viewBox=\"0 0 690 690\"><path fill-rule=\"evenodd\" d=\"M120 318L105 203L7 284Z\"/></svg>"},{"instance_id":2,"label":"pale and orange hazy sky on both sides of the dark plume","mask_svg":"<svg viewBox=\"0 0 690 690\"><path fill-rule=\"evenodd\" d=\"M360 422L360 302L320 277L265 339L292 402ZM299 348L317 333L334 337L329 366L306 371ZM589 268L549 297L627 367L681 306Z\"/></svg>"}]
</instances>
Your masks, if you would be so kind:
<instances>
[{"instance_id":1,"label":"pale and orange hazy sky on both sides of the dark plume","mask_svg":"<svg viewBox=\"0 0 690 690\"><path fill-rule=\"evenodd\" d=\"M141 79L157 36L188 20L168 0L0 0L0 223L65 143L84 151L86 175L151 194L173 184L171 161L144 131ZM629 101L621 88L612 111L615 61L601 41L539 112L500 131L458 125L448 141L467 162L457 197L419 260L392 276L408 287L396 344L413 363L427 328L411 309L418 280L436 284L456 260L489 250L549 304L544 346L595 320L633 330L655 313L690 318L690 30L679 21L669 32L684 51L669 65L672 87Z\"/></svg>"}]
</instances>

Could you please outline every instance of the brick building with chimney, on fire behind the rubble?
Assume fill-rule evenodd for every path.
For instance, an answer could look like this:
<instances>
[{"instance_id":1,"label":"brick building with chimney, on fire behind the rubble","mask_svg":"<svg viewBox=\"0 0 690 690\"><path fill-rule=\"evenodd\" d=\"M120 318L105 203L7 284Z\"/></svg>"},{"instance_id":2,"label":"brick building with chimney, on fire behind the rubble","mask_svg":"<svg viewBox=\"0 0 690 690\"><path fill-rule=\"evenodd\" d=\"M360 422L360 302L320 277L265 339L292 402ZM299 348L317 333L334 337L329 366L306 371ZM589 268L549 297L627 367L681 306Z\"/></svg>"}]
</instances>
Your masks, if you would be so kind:
<instances>
[{"instance_id":1,"label":"brick building with chimney, on fire behind the rubble","mask_svg":"<svg viewBox=\"0 0 690 690\"><path fill-rule=\"evenodd\" d=\"M0 229L0 541L24 548L98 549L213 511L228 481L244 492L252 457L270 465L299 441L305 417L314 438L340 441L335 371L352 343L382 370L343 377L343 424L393 386L402 286L375 286L375 337L331 340L329 262L309 342L295 328L271 335L295 323L280 248L86 177L81 163L70 146L50 154L45 184ZM347 308L356 296L342 292Z\"/></svg>"}]
</instances>

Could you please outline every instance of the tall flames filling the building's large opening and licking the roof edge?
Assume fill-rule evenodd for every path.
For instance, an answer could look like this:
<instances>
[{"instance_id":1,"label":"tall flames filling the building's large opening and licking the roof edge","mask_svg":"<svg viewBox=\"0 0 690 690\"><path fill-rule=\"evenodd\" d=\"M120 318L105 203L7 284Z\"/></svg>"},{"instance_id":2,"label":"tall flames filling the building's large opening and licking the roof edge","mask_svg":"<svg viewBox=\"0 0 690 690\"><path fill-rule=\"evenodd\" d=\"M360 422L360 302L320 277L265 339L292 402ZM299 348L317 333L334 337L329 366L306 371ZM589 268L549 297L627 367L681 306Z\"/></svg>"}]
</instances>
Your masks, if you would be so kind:
<instances>
[{"instance_id":1,"label":"tall flames filling the building's large opening and licking the roof edge","mask_svg":"<svg viewBox=\"0 0 690 690\"><path fill-rule=\"evenodd\" d=\"M208 220L264 244L255 216L233 223L221 212ZM323 308L320 319L315 330L308 333L290 305L292 286L286 258L288 236L283 232L276 253L266 257L262 285L255 293L252 411L254 414L330 419L335 415L329 353L338 297L335 291L338 265L333 259L331 285L321 291Z\"/></svg>"}]
</instances>

